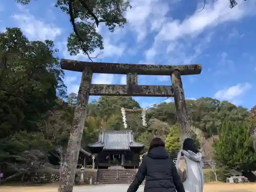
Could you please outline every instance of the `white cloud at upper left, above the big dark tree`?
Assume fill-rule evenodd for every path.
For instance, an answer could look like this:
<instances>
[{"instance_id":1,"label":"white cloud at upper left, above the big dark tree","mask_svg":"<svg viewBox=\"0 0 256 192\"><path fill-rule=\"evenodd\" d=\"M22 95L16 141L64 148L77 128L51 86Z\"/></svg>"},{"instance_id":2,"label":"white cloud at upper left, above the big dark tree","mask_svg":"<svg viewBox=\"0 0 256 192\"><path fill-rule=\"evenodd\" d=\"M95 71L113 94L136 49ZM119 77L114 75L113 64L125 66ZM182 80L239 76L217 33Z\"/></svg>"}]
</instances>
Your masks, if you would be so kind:
<instances>
[{"instance_id":1,"label":"white cloud at upper left, above the big dark tree","mask_svg":"<svg viewBox=\"0 0 256 192\"><path fill-rule=\"evenodd\" d=\"M11 17L16 21L17 27L28 36L30 40L54 40L61 35L61 29L54 24L46 23L43 20L35 18L29 10L18 4L20 13Z\"/></svg>"}]
</instances>

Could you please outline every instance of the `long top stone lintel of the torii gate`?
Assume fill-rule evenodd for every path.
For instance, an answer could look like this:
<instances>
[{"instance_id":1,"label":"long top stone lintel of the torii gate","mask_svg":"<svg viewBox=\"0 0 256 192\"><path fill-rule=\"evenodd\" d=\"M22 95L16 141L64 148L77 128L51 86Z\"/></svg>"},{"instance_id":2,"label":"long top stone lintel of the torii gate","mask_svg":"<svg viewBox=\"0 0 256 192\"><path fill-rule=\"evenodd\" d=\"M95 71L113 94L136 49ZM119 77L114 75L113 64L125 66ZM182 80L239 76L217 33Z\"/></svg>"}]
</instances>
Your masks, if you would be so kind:
<instances>
[{"instance_id":1,"label":"long top stone lintel of the torii gate","mask_svg":"<svg viewBox=\"0 0 256 192\"><path fill-rule=\"evenodd\" d=\"M93 73L106 74L137 73L138 75L170 75L175 70L179 70L180 75L197 75L202 71L201 65L137 65L107 62L86 62L68 59L61 59L60 66L61 69L68 71L82 72L84 68L91 68Z\"/></svg>"}]
</instances>

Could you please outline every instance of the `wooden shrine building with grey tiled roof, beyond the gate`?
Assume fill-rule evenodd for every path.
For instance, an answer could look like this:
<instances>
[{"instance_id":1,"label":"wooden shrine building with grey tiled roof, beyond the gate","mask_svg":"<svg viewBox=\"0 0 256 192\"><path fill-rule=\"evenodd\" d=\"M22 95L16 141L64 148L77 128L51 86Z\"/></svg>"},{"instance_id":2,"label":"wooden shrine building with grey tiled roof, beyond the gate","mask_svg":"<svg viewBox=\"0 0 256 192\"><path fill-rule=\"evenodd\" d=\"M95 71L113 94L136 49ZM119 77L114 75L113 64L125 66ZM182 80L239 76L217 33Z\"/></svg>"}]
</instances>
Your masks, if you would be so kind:
<instances>
[{"instance_id":1,"label":"wooden shrine building with grey tiled roof, beyond the gate","mask_svg":"<svg viewBox=\"0 0 256 192\"><path fill-rule=\"evenodd\" d=\"M103 131L98 141L89 144L88 148L96 154L95 168L138 168L144 144L134 141L132 130Z\"/></svg>"}]
</instances>

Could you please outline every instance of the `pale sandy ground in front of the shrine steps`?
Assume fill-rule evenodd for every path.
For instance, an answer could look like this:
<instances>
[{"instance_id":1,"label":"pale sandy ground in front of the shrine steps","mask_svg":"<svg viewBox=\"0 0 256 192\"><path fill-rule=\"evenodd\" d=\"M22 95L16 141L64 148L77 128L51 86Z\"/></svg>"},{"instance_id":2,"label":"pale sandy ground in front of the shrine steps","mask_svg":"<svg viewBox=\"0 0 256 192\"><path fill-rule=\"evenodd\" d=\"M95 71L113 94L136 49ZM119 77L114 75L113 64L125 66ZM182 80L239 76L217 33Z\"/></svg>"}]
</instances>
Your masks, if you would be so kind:
<instances>
[{"instance_id":1,"label":"pale sandy ground in front of the shrine steps","mask_svg":"<svg viewBox=\"0 0 256 192\"><path fill-rule=\"evenodd\" d=\"M55 192L57 191L57 185L42 185L42 186L0 186L1 192ZM229 184L229 183L205 183L204 192L252 192L255 191L256 183L246 184ZM114 189L114 190L113 190ZM126 185L88 185L88 186L75 186L74 192L80 191L105 191L114 192L118 189L118 192L125 192ZM143 187L140 187L138 192L143 191Z\"/></svg>"}]
</instances>

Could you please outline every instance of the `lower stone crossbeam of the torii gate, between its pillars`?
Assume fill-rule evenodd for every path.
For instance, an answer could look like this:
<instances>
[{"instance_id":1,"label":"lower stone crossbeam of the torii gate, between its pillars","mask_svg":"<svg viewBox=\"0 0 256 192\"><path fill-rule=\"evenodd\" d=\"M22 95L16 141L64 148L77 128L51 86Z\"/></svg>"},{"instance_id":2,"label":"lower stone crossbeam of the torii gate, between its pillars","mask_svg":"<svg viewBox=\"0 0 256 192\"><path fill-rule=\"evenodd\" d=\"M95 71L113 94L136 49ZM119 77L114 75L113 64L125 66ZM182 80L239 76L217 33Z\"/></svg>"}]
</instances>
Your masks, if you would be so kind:
<instances>
[{"instance_id":1,"label":"lower stone crossbeam of the torii gate, between its pillars","mask_svg":"<svg viewBox=\"0 0 256 192\"><path fill-rule=\"evenodd\" d=\"M173 97L174 91L172 86L134 86L129 92L126 85L91 84L90 95Z\"/></svg>"}]
</instances>

